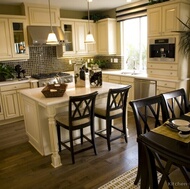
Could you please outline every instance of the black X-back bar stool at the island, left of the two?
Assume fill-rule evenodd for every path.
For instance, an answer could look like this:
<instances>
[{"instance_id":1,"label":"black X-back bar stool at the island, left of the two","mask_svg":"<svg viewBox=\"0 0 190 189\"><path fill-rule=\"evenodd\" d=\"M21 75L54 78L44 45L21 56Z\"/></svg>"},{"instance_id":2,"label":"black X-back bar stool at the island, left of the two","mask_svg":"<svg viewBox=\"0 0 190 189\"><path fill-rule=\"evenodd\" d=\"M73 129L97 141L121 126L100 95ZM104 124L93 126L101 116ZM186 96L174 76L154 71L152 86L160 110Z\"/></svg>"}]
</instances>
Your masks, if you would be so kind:
<instances>
[{"instance_id":1,"label":"black X-back bar stool at the island, left of the two","mask_svg":"<svg viewBox=\"0 0 190 189\"><path fill-rule=\"evenodd\" d=\"M69 150L71 152L73 164L75 163L75 154L93 148L95 155L97 155L94 133L94 107L97 94L98 92L96 91L86 95L70 96L69 110L67 112L59 113L55 116L59 152L61 152L62 146ZM90 128L91 138L89 138L89 136L83 132L83 129L86 127ZM69 139L62 139L63 129L69 131ZM79 136L74 135L76 134L74 133L76 130L80 130ZM86 141L91 143L91 145L75 150L74 141L78 139L80 139L81 145L83 144L83 139L86 139Z\"/></svg>"}]
</instances>

